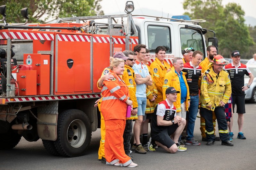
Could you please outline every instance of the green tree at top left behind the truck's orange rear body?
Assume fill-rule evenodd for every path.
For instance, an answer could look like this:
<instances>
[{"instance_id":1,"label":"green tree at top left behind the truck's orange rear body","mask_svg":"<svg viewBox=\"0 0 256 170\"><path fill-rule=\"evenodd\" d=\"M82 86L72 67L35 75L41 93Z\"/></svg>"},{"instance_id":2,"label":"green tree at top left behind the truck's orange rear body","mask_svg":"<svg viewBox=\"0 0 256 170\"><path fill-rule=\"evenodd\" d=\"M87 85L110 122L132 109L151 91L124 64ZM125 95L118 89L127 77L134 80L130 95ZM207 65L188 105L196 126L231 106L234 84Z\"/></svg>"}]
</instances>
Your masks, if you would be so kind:
<instances>
[{"instance_id":1,"label":"green tree at top left behind the truck's orange rear body","mask_svg":"<svg viewBox=\"0 0 256 170\"><path fill-rule=\"evenodd\" d=\"M103 15L101 0L3 0L6 5L6 22L22 23L21 8L28 8L29 22L45 22L61 17ZM97 11L96 11L97 10ZM44 20L43 20L44 19Z\"/></svg>"}]
</instances>

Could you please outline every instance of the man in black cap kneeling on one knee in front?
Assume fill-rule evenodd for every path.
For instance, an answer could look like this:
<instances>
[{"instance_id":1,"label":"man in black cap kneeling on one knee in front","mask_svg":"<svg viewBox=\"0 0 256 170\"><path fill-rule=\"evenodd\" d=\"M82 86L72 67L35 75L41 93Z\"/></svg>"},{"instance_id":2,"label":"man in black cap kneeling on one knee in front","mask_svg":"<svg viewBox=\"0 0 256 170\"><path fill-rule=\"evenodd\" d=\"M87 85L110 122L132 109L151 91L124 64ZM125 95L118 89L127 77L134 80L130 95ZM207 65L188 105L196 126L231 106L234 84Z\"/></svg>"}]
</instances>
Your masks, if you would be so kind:
<instances>
[{"instance_id":1,"label":"man in black cap kneeling on one knee in front","mask_svg":"<svg viewBox=\"0 0 256 170\"><path fill-rule=\"evenodd\" d=\"M158 103L155 108L151 120L149 151L155 151L156 145L161 146L170 153L187 150L187 148L178 144L178 139L186 125L186 120L176 116L176 108L173 106L173 102L177 100L177 93L179 91L176 91L174 87L168 87L165 92L166 99Z\"/></svg>"}]
</instances>

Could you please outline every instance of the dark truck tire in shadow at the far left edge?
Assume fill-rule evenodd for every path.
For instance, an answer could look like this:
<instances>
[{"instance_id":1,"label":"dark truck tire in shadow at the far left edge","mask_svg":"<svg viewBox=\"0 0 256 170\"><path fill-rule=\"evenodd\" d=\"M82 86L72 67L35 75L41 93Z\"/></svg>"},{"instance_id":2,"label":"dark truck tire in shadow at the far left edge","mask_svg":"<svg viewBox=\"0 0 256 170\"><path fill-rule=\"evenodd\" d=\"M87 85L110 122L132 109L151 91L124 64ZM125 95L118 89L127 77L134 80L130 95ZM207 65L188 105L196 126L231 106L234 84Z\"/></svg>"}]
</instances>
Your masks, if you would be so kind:
<instances>
[{"instance_id":1,"label":"dark truck tire in shadow at the far left edge","mask_svg":"<svg viewBox=\"0 0 256 170\"><path fill-rule=\"evenodd\" d=\"M20 142L21 135L17 131L10 128L7 133L0 134L0 150L12 149Z\"/></svg>"}]
</instances>

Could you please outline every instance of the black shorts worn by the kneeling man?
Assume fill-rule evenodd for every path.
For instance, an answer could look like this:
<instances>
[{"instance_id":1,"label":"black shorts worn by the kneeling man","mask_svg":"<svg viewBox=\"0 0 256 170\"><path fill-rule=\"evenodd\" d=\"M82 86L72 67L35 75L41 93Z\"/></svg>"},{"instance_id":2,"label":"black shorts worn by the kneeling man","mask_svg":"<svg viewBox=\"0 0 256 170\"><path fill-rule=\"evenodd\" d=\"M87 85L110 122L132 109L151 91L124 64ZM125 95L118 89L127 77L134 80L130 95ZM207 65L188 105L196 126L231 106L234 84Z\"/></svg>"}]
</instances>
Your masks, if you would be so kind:
<instances>
[{"instance_id":1,"label":"black shorts worn by the kneeling man","mask_svg":"<svg viewBox=\"0 0 256 170\"><path fill-rule=\"evenodd\" d=\"M171 139L170 135L172 135L175 130L179 127L178 123L175 125L168 126L166 129L162 130L160 133L156 135L151 135L154 141L157 141L167 148L170 148L175 142Z\"/></svg>"}]
</instances>

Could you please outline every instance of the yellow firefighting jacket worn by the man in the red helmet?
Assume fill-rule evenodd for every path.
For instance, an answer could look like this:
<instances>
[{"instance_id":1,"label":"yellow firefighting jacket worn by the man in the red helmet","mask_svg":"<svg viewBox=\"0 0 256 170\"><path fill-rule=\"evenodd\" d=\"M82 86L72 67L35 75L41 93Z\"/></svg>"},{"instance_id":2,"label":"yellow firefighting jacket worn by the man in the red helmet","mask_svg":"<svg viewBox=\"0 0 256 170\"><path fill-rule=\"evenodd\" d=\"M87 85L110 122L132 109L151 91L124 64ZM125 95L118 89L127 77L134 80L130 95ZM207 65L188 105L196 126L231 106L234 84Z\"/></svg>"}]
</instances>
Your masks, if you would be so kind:
<instances>
[{"instance_id":1,"label":"yellow firefighting jacket worn by the man in the red helmet","mask_svg":"<svg viewBox=\"0 0 256 170\"><path fill-rule=\"evenodd\" d=\"M209 75L211 75L213 79L213 84L209 84L206 81L207 78L211 80ZM201 81L201 94L199 97L200 106L210 110L211 108L207 106L212 105L212 107L218 107L220 106L220 101L223 101L226 104L230 95L231 83L228 72L221 70L219 75L217 75L213 71L213 67L206 70Z\"/></svg>"}]
</instances>

